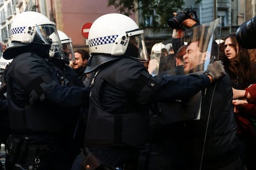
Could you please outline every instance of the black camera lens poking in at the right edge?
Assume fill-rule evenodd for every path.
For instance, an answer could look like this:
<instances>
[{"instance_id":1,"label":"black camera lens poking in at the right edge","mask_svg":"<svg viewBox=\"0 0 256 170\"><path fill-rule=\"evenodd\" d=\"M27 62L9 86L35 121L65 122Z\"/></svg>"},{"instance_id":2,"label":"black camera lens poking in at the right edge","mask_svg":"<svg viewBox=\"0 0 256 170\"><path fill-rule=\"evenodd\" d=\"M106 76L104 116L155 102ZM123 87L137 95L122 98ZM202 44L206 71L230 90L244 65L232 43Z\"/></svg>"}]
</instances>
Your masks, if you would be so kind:
<instances>
[{"instance_id":1,"label":"black camera lens poking in at the right edge","mask_svg":"<svg viewBox=\"0 0 256 170\"><path fill-rule=\"evenodd\" d=\"M255 49L256 42L256 16L242 23L236 30L236 39L245 49Z\"/></svg>"}]
</instances>

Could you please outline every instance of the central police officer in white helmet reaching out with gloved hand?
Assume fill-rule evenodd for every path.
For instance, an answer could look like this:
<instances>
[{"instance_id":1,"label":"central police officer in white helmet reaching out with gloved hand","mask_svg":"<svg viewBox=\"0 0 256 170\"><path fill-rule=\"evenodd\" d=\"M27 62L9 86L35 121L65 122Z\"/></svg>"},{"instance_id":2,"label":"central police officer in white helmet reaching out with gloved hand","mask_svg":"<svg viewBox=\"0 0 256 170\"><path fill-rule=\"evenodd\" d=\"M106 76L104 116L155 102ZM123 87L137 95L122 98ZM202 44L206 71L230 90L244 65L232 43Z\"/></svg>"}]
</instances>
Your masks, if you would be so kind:
<instances>
[{"instance_id":1,"label":"central police officer in white helmet reaching out with gloved hand","mask_svg":"<svg viewBox=\"0 0 256 170\"><path fill-rule=\"evenodd\" d=\"M148 60L143 30L126 15L97 18L88 41L92 57L85 73L94 75L85 132L88 166L142 169L138 157L148 142L150 104L187 99L224 75L216 62L208 75L151 76L143 65ZM91 157L98 163L88 161Z\"/></svg>"}]
</instances>

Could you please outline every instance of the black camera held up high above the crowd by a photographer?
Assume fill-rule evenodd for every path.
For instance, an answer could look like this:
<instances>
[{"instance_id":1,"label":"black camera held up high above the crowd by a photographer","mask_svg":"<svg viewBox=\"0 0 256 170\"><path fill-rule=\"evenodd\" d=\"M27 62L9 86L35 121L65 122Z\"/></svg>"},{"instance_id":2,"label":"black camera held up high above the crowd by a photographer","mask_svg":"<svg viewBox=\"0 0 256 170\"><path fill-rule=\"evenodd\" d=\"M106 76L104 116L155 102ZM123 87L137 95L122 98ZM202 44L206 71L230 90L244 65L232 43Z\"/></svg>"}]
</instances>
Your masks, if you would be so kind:
<instances>
[{"instance_id":1,"label":"black camera held up high above the crowd by a photographer","mask_svg":"<svg viewBox=\"0 0 256 170\"><path fill-rule=\"evenodd\" d=\"M182 22L184 22L184 20L186 20L188 18L191 18L192 20L199 22L195 10L185 9L185 10L182 10L181 12L177 12L177 15L175 15L173 18L169 19L168 25L169 25L169 27L176 29L176 30L178 30L178 29L184 30L184 26L182 26Z\"/></svg>"}]
</instances>

